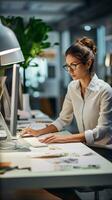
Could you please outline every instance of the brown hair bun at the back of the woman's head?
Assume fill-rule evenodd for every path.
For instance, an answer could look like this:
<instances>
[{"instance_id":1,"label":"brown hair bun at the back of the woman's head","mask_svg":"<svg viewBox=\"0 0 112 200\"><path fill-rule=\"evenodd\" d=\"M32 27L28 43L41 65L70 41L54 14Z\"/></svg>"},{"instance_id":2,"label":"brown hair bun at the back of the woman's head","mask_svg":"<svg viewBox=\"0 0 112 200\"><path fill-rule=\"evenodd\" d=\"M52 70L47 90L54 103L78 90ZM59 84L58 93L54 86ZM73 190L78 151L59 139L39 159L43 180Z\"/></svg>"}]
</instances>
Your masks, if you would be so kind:
<instances>
[{"instance_id":1,"label":"brown hair bun at the back of the woman's head","mask_svg":"<svg viewBox=\"0 0 112 200\"><path fill-rule=\"evenodd\" d=\"M92 39L83 37L81 39L78 39L77 42L83 46L88 47L94 55L96 54L96 45Z\"/></svg>"}]
</instances>

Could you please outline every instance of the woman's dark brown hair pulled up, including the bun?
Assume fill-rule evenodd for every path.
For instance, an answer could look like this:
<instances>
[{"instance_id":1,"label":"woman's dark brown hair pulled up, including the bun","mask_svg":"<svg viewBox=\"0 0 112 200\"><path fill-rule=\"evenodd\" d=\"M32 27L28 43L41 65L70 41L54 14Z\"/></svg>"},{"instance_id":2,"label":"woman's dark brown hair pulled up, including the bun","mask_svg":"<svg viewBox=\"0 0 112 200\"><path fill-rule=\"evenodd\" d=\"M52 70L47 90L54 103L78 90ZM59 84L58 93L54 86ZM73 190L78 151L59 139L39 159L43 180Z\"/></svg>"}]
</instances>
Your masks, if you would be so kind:
<instances>
[{"instance_id":1,"label":"woman's dark brown hair pulled up, including the bun","mask_svg":"<svg viewBox=\"0 0 112 200\"><path fill-rule=\"evenodd\" d=\"M89 68L89 72L93 72L94 59L96 54L96 45L90 38L83 37L78 39L72 44L65 52L65 56L72 55L81 60L83 64L86 64L89 59L92 60L92 64Z\"/></svg>"}]
</instances>

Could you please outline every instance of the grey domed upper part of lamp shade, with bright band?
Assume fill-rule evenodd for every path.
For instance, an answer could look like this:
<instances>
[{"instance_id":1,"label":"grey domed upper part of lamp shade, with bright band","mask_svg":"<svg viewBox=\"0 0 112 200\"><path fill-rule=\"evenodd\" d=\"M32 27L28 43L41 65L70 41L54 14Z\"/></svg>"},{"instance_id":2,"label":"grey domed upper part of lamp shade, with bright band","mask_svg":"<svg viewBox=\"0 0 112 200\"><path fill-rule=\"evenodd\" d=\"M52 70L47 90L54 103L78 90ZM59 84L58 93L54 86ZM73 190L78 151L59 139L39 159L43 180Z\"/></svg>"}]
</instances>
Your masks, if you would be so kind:
<instances>
[{"instance_id":1,"label":"grey domed upper part of lamp shade, with bright band","mask_svg":"<svg viewBox=\"0 0 112 200\"><path fill-rule=\"evenodd\" d=\"M14 32L0 22L0 56L20 49Z\"/></svg>"}]
</instances>

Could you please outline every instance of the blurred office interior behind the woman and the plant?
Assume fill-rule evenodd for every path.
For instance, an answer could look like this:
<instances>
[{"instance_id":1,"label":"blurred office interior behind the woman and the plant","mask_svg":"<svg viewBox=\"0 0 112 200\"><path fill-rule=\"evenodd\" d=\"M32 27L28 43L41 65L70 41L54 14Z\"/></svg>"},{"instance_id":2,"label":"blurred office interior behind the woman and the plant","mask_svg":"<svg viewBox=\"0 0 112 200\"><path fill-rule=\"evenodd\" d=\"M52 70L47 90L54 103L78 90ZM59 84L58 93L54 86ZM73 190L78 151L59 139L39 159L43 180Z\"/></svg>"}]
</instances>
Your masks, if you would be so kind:
<instances>
[{"instance_id":1,"label":"blurred office interior behind the woman and the plant","mask_svg":"<svg viewBox=\"0 0 112 200\"><path fill-rule=\"evenodd\" d=\"M77 38L95 40L98 76L112 86L112 1L111 0L0 0L0 15L42 19L52 27L51 46L43 59L36 58L38 67L26 69L26 85L32 109L56 118L66 93L70 76L63 70L64 52ZM21 80L23 79L20 68Z\"/></svg>"}]
</instances>

